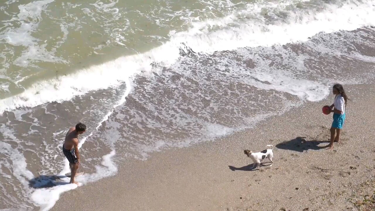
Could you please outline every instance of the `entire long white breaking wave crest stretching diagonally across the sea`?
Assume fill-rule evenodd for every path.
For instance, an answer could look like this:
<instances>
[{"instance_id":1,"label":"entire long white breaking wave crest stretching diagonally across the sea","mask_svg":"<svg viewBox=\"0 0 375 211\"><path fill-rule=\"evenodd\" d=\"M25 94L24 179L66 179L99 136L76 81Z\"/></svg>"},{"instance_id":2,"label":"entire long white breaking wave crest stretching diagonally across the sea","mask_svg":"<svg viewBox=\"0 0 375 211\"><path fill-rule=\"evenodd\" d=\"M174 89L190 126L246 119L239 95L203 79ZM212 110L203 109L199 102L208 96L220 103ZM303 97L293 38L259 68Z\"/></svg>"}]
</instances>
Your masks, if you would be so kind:
<instances>
[{"instance_id":1,"label":"entire long white breaking wave crest stretching diagonally across the sea","mask_svg":"<svg viewBox=\"0 0 375 211\"><path fill-rule=\"evenodd\" d=\"M319 32L354 30L375 25L375 0L351 1L338 5L324 5L323 11L288 12L287 19L271 24L260 14L266 8L285 9L285 4L249 5L224 18L192 23L186 32L171 32L170 41L144 54L120 57L101 65L81 69L74 74L34 83L23 93L0 100L0 113L18 107L34 107L51 101L65 101L92 90L118 86L142 72L152 69L152 63L173 64L180 49L195 52L233 50L239 47L269 46L305 41ZM254 15L256 18L254 18ZM243 21L246 19L246 21ZM213 30L215 29L215 30Z\"/></svg>"}]
</instances>

